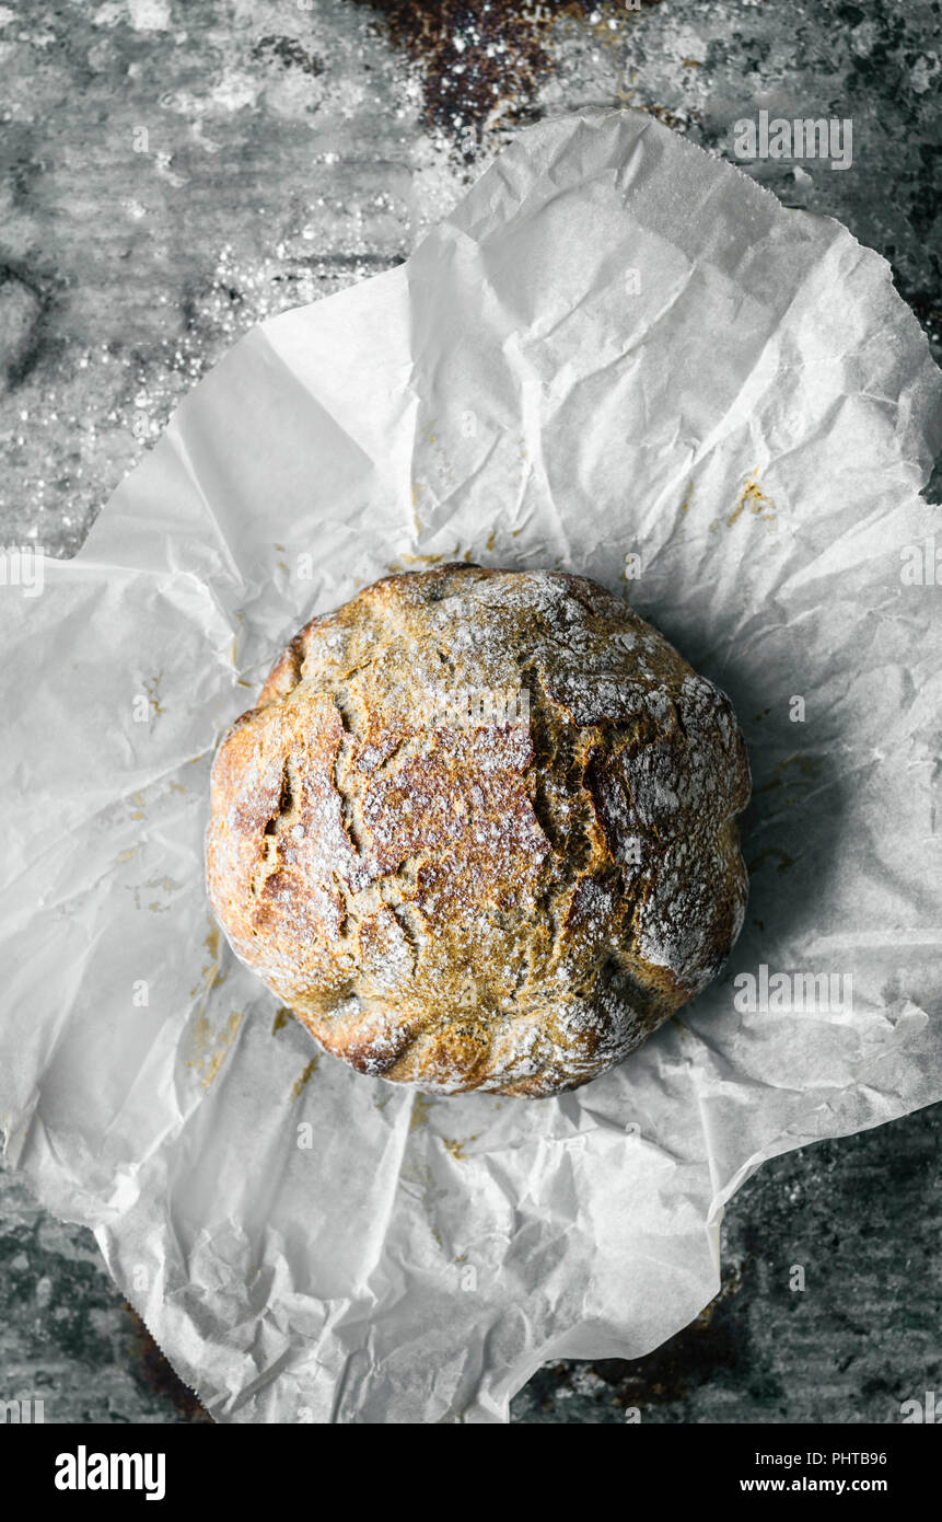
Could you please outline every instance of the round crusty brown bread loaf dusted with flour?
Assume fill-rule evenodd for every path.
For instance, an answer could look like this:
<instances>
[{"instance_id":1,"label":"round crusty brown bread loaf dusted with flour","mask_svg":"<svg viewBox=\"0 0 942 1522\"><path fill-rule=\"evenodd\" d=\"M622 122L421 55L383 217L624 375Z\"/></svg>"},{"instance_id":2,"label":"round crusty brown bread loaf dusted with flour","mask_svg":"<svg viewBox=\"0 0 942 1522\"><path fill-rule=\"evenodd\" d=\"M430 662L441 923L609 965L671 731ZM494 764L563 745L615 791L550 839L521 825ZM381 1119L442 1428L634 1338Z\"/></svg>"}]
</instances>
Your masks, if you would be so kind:
<instances>
[{"instance_id":1,"label":"round crusty brown bread loaf dusted with flour","mask_svg":"<svg viewBox=\"0 0 942 1522\"><path fill-rule=\"evenodd\" d=\"M208 893L361 1073L557 1094L717 974L749 785L726 696L619 598L443 565L292 639L213 766Z\"/></svg>"}]
</instances>

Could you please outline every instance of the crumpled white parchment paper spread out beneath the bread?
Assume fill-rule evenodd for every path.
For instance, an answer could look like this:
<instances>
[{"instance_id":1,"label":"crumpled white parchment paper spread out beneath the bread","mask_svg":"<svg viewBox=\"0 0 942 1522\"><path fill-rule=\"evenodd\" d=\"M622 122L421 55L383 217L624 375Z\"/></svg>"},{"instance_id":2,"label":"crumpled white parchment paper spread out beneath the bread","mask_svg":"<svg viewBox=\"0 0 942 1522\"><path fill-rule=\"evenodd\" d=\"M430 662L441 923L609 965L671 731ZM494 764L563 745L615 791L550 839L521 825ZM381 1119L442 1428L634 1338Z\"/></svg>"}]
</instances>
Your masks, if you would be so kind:
<instances>
[{"instance_id":1,"label":"crumpled white parchment paper spread out beneath the bread","mask_svg":"<svg viewBox=\"0 0 942 1522\"><path fill-rule=\"evenodd\" d=\"M253 329L44 594L3 589L9 1157L218 1420L505 1420L545 1359L699 1313L762 1158L942 1097L942 592L904 578L939 391L839 224L645 116L569 117L406 265ZM411 556L618 589L627 554L750 750L726 974L555 1100L317 1061L208 918L225 724ZM741 973L851 1006L749 1012Z\"/></svg>"}]
</instances>

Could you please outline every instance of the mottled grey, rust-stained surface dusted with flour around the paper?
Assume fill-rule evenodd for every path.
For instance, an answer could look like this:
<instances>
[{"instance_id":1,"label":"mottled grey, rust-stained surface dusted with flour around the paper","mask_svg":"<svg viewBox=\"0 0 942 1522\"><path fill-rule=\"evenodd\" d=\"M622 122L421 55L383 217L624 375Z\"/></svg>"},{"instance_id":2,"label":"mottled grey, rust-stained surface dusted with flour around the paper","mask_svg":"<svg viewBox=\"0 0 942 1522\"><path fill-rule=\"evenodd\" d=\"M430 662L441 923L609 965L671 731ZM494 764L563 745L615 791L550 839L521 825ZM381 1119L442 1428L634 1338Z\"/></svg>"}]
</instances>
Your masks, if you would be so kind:
<instances>
[{"instance_id":1,"label":"mottled grey, rust-stained surface dusted with flour around the paper","mask_svg":"<svg viewBox=\"0 0 942 1522\"><path fill-rule=\"evenodd\" d=\"M0 3L0 542L75 554L240 333L400 263L514 132L580 107L730 158L761 107L851 117L849 170L749 172L883 253L937 353L940 58L936 0ZM513 1420L889 1423L931 1390L942 1409L940 1117L765 1164L712 1306L645 1359L546 1367ZM207 1420L91 1234L9 1172L0 1380L49 1422Z\"/></svg>"}]
</instances>

